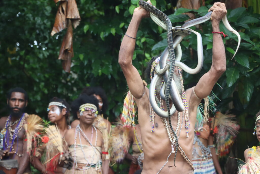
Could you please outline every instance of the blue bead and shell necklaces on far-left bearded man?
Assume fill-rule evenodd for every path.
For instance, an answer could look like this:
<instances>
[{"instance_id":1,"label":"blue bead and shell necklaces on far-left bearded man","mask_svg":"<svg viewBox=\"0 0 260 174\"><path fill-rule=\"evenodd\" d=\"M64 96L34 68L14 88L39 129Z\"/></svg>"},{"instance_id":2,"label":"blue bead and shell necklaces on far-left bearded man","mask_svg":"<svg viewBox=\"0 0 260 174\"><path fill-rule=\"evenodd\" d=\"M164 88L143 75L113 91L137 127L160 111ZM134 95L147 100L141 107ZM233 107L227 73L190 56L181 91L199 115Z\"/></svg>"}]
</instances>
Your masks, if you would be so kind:
<instances>
[{"instance_id":1,"label":"blue bead and shell necklaces on far-left bearded man","mask_svg":"<svg viewBox=\"0 0 260 174\"><path fill-rule=\"evenodd\" d=\"M4 132L4 143L3 143L3 149L6 150L8 148L10 148L10 152L14 151L15 154L18 157L22 157L23 154L18 154L17 151L15 151L14 149L14 144L15 144L15 139L17 139L17 146L18 146L18 134L20 133L20 131L23 128L23 125L25 123L25 118L27 117L27 115L25 116L25 113L23 113L23 115L21 116L20 119L18 119L18 121L16 120L14 123L17 123L17 126L15 127L15 129L13 130L11 128L12 125L14 125L14 123L11 122L11 115L6 119L6 124L5 124L5 132ZM8 133L9 136L7 135L7 129L8 129ZM9 143L11 140L11 143ZM18 147L16 148L16 150L18 149Z\"/></svg>"}]
</instances>

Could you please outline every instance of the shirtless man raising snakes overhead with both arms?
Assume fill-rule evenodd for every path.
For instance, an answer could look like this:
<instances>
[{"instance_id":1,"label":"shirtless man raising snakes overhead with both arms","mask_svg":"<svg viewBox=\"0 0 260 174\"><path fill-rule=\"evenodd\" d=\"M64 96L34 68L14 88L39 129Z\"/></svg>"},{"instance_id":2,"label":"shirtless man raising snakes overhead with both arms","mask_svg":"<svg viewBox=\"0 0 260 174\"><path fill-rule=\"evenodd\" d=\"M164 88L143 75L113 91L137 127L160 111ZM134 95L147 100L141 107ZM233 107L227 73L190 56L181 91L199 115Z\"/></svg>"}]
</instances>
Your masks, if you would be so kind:
<instances>
[{"instance_id":1,"label":"shirtless man raising snakes overhead with both arms","mask_svg":"<svg viewBox=\"0 0 260 174\"><path fill-rule=\"evenodd\" d=\"M151 3L150 1L148 2ZM213 11L211 15L213 32L220 32L219 22L227 13L225 4L215 3L209 11ZM194 167L191 159L197 108L201 99L210 94L213 86L226 70L223 40L220 34L213 34L211 69L200 78L195 87L187 89L186 91L183 89L183 92L186 92L188 105L188 109L185 111L188 113L186 118L180 118L180 116L183 116L183 112L178 111L171 116L173 130L179 128L175 131L176 134L179 134L179 148L178 151L175 149L174 152L174 147L172 147L173 132L171 132L172 130L168 126L169 120L161 119L157 114L153 114L153 110L150 109L149 89L144 85L139 72L132 64L136 33L142 18L145 17L149 17L149 12L145 9L138 7L134 10L132 20L121 43L118 61L125 75L129 90L135 98L138 107L138 122L141 128L142 148L144 151L142 173L193 173ZM152 66L153 68L151 68L151 78L154 75L154 65L158 63L159 59L155 59ZM175 68L174 73L182 81L181 73L178 73L177 68ZM165 102L162 104L166 106ZM164 108L166 110L166 107ZM150 122L150 119L152 122ZM185 124L178 125L177 120L178 123L185 123L186 120L189 120L189 129L187 130L185 128ZM189 132L190 134L188 134ZM175 160L175 167L174 153L176 152L178 153Z\"/></svg>"}]
</instances>

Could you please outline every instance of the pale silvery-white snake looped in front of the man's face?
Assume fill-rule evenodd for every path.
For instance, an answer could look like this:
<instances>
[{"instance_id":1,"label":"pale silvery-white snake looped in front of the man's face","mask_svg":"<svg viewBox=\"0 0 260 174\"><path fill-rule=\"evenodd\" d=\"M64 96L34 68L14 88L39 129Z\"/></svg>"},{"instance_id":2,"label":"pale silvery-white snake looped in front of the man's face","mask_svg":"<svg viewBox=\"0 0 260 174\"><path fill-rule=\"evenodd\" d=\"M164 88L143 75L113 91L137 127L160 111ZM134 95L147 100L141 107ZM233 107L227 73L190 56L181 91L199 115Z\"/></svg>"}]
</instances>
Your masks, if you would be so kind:
<instances>
[{"instance_id":1,"label":"pale silvery-white snake looped in front of the man's face","mask_svg":"<svg viewBox=\"0 0 260 174\"><path fill-rule=\"evenodd\" d=\"M200 17L200 18L197 18L197 19L194 19L194 20L191 20L189 22L186 22L184 25L181 26L181 28L185 28L185 29L189 29L191 32L195 33L197 35L197 44L198 44L198 64L197 64L197 67L192 69L190 67L188 67L187 65L185 65L184 63L180 62L180 59L181 59L181 47L180 47L180 42L181 40L184 38L184 35L177 35L175 38L174 38L174 41L173 41L173 47L176 48L177 47L177 58L176 58L176 61L175 61L175 66L177 67L180 67L181 69L183 69L185 72L189 73L189 74L197 74L201 69L202 69L202 66L203 66L203 47L202 47L202 37L201 35L196 32L196 31L193 31L192 29L190 29L189 27L192 27L194 25L197 25L197 24L200 24L200 23L203 23L207 20L210 19L211 17L211 14L212 14L212 11L210 11L209 13L207 13L205 16L203 17ZM151 16L151 19L157 23L157 25L159 25L160 27L162 27L163 29L166 29L166 26L165 24L154 14L150 13L150 16ZM237 50L238 50L238 47L240 45L240 35L238 34L237 31L235 31L231 26L230 24L228 23L228 19L226 17L226 15L223 17L222 19L223 21L223 24L224 26L232 33L236 34L237 37L238 37L238 46L237 46L237 49L236 49L236 52L235 54L233 55L233 57L236 55L237 53ZM173 29L176 28L176 27L172 27ZM178 34L178 33L177 33ZM166 66L166 60L169 56L169 51L168 51L168 47L166 47L166 49L164 50L164 52L162 53L161 55L161 58L160 58L160 62L159 62L159 65L160 66L157 66L157 72L160 71L160 69L164 69L165 66ZM232 57L232 58L233 58ZM164 80L167 80L167 77L168 77L168 70L165 72L164 75L162 75L162 77L164 78ZM157 105L156 101L155 101L155 96L154 96L154 90L155 90L155 85L157 83L158 80L161 79L161 76L159 75L155 75L151 81L151 85L150 85L150 90L149 90L149 97L150 97L150 103L151 103L151 106L154 110L155 113L157 113L157 115L159 115L160 117L163 117L163 118L167 118L168 115L167 115L167 112L166 111L163 111L159 108L159 106ZM177 90L177 87L175 85L175 82L174 80L172 79L171 81L171 89L170 89L170 94L171 94L171 98L173 99L173 105L170 109L170 113L171 115L173 115L173 113L178 110L179 112L183 111L184 110L184 106L183 106L183 103L182 103L182 100L181 100L181 97L180 97L180 94ZM165 83L163 84L162 88L161 88L161 91L160 91L160 95L161 95L161 98L163 100L165 100Z\"/></svg>"}]
</instances>

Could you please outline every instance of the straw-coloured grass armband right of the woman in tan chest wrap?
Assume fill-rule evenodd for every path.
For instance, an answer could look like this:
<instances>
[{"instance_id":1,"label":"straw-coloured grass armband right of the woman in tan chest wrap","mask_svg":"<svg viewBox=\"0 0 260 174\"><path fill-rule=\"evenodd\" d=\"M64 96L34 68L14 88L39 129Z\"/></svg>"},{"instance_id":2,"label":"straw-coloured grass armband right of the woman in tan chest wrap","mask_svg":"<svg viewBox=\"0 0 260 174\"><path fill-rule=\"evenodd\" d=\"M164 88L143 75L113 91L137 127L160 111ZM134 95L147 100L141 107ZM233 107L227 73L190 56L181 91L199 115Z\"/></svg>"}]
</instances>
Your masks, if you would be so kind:
<instances>
[{"instance_id":1,"label":"straw-coloured grass armband right of the woman in tan chest wrap","mask_svg":"<svg viewBox=\"0 0 260 174\"><path fill-rule=\"evenodd\" d=\"M108 152L108 141L109 141L109 135L107 132L107 124L104 121L103 117L101 115L98 115L95 118L95 122L93 124L97 129L99 129L102 133L103 137L103 146L104 146L104 151L105 153ZM109 160L109 154L105 154L105 160Z\"/></svg>"}]
</instances>

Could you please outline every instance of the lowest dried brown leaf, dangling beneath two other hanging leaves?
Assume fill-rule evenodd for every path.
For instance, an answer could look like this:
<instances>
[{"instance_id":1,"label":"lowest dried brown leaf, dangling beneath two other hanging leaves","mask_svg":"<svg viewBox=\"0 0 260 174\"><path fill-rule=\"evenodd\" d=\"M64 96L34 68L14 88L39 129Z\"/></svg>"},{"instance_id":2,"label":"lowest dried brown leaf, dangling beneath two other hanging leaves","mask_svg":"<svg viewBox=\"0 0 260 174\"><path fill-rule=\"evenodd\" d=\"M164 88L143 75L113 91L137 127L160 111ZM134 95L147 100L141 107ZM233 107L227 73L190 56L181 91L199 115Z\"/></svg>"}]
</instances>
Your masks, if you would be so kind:
<instances>
[{"instance_id":1,"label":"lowest dried brown leaf, dangling beneath two other hanging leaves","mask_svg":"<svg viewBox=\"0 0 260 174\"><path fill-rule=\"evenodd\" d=\"M71 59L74 57L73 52L73 28L72 22L68 19L68 29L66 35L64 36L61 44L59 58L63 60L62 67L64 71L70 72Z\"/></svg>"}]
</instances>

